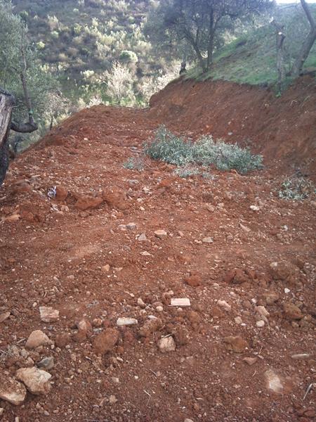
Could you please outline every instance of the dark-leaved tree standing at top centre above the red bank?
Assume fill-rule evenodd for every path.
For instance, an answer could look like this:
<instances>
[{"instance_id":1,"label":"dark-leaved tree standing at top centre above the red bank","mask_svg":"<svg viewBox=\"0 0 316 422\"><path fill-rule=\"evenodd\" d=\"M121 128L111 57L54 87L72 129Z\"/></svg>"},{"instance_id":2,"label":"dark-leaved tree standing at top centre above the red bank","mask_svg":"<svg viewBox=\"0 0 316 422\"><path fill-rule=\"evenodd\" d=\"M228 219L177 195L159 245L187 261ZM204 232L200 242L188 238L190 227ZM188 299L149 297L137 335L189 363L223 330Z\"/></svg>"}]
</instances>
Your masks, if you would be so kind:
<instances>
[{"instance_id":1,"label":"dark-leaved tree standing at top centre above the red bank","mask_svg":"<svg viewBox=\"0 0 316 422\"><path fill-rule=\"evenodd\" d=\"M238 19L273 5L272 0L161 0L149 14L147 34L154 42L189 46L207 72L218 34Z\"/></svg>"}]
</instances>

